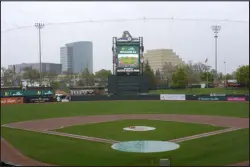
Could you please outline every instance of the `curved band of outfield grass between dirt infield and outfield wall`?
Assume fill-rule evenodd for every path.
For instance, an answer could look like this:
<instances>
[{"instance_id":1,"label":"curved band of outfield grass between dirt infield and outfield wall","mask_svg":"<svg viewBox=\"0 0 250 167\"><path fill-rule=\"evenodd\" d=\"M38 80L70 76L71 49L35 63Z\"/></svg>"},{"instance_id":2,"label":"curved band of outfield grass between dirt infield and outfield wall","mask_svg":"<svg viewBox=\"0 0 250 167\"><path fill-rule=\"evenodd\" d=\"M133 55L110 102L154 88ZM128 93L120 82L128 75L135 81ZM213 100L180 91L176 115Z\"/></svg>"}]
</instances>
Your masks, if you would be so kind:
<instances>
[{"instance_id":1,"label":"curved band of outfield grass between dirt infield and outfield wall","mask_svg":"<svg viewBox=\"0 0 250 167\"><path fill-rule=\"evenodd\" d=\"M1 106L1 124L79 115L196 114L249 117L249 103L211 101L106 101Z\"/></svg>"}]
</instances>

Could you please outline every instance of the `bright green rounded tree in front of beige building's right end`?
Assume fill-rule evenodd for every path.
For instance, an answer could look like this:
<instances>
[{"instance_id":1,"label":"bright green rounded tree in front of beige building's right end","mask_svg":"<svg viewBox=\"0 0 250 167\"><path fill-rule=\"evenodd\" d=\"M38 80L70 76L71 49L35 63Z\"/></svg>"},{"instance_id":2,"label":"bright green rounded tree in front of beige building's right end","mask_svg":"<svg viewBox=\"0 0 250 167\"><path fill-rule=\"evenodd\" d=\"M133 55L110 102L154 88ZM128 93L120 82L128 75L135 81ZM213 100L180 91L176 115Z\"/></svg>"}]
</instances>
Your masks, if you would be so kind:
<instances>
[{"instance_id":1,"label":"bright green rounded tree in front of beige building's right end","mask_svg":"<svg viewBox=\"0 0 250 167\"><path fill-rule=\"evenodd\" d=\"M178 88L185 88L188 83L187 74L185 68L179 67L172 75L173 86Z\"/></svg>"}]
</instances>

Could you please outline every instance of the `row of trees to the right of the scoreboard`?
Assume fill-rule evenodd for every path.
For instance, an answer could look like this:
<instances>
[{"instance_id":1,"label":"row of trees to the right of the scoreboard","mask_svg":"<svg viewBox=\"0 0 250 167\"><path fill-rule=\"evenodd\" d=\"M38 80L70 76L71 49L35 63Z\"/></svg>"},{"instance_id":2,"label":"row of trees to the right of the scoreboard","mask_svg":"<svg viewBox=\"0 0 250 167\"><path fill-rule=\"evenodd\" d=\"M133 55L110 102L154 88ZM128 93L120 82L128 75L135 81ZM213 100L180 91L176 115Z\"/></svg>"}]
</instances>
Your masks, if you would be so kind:
<instances>
[{"instance_id":1,"label":"row of trees to the right of the scoreboard","mask_svg":"<svg viewBox=\"0 0 250 167\"><path fill-rule=\"evenodd\" d=\"M243 65L232 73L217 73L211 66L203 63L188 63L181 65L172 65L164 63L162 69L153 71L148 61L144 65L144 73L150 78L151 87L160 87L161 85L175 88L186 88L191 84L207 83L213 84L217 81L227 81L235 79L238 83L249 87L249 65Z\"/></svg>"}]
</instances>

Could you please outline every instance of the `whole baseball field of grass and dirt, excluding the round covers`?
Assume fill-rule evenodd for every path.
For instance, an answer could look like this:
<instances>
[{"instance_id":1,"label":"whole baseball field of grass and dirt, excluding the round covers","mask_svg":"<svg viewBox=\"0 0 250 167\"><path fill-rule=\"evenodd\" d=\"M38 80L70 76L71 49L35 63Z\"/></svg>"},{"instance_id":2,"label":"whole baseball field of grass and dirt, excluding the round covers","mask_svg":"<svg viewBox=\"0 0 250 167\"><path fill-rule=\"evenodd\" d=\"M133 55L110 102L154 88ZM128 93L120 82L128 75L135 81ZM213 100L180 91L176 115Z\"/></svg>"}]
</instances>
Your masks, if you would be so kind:
<instances>
[{"instance_id":1,"label":"whole baseball field of grass and dirt, excluding the round covers","mask_svg":"<svg viewBox=\"0 0 250 167\"><path fill-rule=\"evenodd\" d=\"M1 160L21 165L172 166L249 164L249 103L109 101L1 106ZM151 126L152 131L124 131ZM180 148L129 153L120 141L159 140Z\"/></svg>"}]
</instances>

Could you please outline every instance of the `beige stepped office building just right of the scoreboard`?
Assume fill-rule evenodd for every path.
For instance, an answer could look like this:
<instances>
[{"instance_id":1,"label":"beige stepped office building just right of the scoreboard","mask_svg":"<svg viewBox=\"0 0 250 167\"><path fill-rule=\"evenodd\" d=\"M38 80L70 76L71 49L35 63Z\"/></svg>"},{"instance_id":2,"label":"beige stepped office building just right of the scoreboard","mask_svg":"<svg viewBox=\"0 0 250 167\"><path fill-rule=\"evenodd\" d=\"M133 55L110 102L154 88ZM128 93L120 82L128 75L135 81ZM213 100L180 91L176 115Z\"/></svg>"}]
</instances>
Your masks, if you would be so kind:
<instances>
[{"instance_id":1,"label":"beige stepped office building just right of the scoreboard","mask_svg":"<svg viewBox=\"0 0 250 167\"><path fill-rule=\"evenodd\" d=\"M154 71L157 69L161 71L165 63L171 63L174 66L184 63L184 61L176 55L172 49L148 50L144 54L144 59L145 61L148 60L149 65Z\"/></svg>"}]
</instances>

